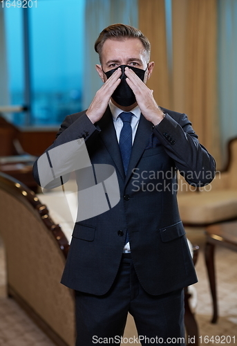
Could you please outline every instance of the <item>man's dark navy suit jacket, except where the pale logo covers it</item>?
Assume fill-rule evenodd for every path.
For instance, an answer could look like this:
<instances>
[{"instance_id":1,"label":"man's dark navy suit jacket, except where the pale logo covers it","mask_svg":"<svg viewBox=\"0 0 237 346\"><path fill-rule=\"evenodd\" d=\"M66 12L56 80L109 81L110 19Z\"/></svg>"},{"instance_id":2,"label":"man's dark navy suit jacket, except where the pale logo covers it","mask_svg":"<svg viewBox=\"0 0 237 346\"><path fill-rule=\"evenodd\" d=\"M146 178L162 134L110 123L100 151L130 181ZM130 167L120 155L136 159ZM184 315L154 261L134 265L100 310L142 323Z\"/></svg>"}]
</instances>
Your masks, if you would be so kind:
<instances>
[{"instance_id":1,"label":"man's dark navy suit jacket, except where the pale logo covers it","mask_svg":"<svg viewBox=\"0 0 237 346\"><path fill-rule=\"evenodd\" d=\"M95 126L85 111L67 116L48 148L84 137L91 163L113 165L120 185L121 199L114 208L75 224L61 279L66 286L106 293L120 266L126 230L147 293L168 293L197 281L178 212L176 169L192 185L202 186L214 178L215 163L187 116L164 112L167 116L156 127L141 115L126 176L109 108ZM34 176L39 183L37 163Z\"/></svg>"}]
</instances>

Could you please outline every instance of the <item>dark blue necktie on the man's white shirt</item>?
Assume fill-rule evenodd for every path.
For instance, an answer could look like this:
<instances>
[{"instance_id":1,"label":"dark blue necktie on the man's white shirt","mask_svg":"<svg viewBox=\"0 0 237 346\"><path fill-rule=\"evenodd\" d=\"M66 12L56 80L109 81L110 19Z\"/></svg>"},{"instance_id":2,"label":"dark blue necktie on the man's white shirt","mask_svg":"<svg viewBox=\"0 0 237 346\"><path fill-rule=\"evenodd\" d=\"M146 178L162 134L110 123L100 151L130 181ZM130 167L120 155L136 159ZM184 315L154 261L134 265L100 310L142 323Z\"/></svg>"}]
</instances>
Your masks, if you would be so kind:
<instances>
[{"instance_id":1,"label":"dark blue necktie on the man's white shirt","mask_svg":"<svg viewBox=\"0 0 237 346\"><path fill-rule=\"evenodd\" d=\"M122 162L124 164L124 172L126 174L129 161L132 151L132 128L131 128L131 119L133 113L130 111L123 111L120 113L120 118L124 123L122 130L120 132L120 152L122 156Z\"/></svg>"}]
</instances>

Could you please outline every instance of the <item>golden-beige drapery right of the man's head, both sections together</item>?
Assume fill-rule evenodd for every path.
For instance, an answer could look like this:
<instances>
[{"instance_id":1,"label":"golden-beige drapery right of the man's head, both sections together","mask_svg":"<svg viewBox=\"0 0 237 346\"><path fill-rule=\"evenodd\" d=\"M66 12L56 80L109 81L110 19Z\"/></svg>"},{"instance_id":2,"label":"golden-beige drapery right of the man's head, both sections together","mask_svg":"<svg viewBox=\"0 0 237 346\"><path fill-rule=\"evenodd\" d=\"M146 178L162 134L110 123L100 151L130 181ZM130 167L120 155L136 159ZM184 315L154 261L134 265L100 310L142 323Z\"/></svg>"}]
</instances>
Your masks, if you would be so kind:
<instances>
[{"instance_id":1,"label":"golden-beige drapery right of the man's head, both sections together","mask_svg":"<svg viewBox=\"0 0 237 346\"><path fill-rule=\"evenodd\" d=\"M220 167L217 112L217 0L173 0L173 71L169 79L164 0L139 1L139 28L151 42L148 86L161 106L187 113Z\"/></svg>"}]
</instances>

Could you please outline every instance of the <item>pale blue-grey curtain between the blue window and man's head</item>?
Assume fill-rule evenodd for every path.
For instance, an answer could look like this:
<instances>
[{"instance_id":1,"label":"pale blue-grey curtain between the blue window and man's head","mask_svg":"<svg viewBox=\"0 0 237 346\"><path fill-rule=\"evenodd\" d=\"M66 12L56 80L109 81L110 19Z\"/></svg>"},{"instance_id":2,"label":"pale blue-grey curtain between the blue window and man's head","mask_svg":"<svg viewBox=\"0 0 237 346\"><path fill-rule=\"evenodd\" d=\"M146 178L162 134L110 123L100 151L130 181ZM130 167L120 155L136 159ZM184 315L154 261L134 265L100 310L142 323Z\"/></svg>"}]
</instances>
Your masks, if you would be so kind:
<instances>
[{"instance_id":1,"label":"pale blue-grey curtain between the blue window and man's head","mask_svg":"<svg viewBox=\"0 0 237 346\"><path fill-rule=\"evenodd\" d=\"M99 33L111 24L122 23L138 27L137 0L86 0L84 43L83 109L88 108L102 81L95 71L99 57L94 44Z\"/></svg>"}]
</instances>

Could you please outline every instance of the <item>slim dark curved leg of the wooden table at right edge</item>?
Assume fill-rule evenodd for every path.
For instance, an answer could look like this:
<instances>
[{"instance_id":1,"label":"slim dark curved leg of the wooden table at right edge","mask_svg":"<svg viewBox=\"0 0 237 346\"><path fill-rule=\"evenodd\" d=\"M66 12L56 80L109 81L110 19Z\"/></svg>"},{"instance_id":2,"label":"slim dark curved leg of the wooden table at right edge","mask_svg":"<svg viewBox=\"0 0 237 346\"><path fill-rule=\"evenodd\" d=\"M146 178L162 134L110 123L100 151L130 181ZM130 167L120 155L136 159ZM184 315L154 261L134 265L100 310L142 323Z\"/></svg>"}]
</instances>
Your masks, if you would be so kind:
<instances>
[{"instance_id":1,"label":"slim dark curved leg of the wooden table at right edge","mask_svg":"<svg viewBox=\"0 0 237 346\"><path fill-rule=\"evenodd\" d=\"M217 297L216 297L216 274L214 266L214 244L207 242L205 244L205 262L207 266L207 274L209 277L209 285L211 289L211 297L213 301L213 317L211 323L216 323L218 320L218 307L217 307Z\"/></svg>"}]
</instances>

